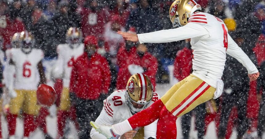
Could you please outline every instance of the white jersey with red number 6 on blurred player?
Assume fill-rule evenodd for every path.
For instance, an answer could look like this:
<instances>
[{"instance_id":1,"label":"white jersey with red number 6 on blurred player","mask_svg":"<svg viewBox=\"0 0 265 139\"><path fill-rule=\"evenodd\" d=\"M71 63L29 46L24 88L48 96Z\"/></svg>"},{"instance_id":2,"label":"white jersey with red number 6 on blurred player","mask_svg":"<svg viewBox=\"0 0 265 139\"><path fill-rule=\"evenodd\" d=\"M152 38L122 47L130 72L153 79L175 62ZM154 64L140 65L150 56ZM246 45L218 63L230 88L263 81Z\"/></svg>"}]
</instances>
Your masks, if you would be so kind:
<instances>
[{"instance_id":1,"label":"white jersey with red number 6 on blurred player","mask_svg":"<svg viewBox=\"0 0 265 139\"><path fill-rule=\"evenodd\" d=\"M15 66L14 89L36 90L38 63L44 58L43 51L32 49L29 54L25 54L20 48L12 48L7 51L7 57L12 59Z\"/></svg>"}]
</instances>

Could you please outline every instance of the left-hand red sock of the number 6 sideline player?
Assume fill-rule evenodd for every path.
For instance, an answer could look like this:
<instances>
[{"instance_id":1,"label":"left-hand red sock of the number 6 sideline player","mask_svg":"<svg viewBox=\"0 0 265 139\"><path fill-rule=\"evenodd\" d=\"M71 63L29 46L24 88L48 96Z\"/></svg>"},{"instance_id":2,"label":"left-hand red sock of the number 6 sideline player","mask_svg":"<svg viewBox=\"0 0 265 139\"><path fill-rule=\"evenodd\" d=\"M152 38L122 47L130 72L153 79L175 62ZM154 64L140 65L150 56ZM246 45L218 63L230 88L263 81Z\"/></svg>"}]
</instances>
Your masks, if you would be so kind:
<instances>
[{"instance_id":1,"label":"left-hand red sock of the number 6 sideline player","mask_svg":"<svg viewBox=\"0 0 265 139\"><path fill-rule=\"evenodd\" d=\"M17 117L18 117L17 114L12 114L12 113L7 113L6 115L9 136L12 136L15 134Z\"/></svg>"}]
</instances>

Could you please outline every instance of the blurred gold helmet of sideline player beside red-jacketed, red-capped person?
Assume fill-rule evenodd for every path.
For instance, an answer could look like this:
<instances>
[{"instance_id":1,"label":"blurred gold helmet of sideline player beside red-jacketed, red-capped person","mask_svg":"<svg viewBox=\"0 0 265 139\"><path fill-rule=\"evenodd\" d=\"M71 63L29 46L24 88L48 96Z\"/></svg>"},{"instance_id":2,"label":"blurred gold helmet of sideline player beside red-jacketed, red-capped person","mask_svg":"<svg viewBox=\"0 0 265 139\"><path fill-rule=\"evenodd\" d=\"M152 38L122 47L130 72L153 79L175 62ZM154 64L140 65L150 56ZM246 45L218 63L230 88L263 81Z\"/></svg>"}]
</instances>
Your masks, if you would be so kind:
<instances>
[{"instance_id":1,"label":"blurred gold helmet of sideline player beside red-jacketed, red-capped person","mask_svg":"<svg viewBox=\"0 0 265 139\"><path fill-rule=\"evenodd\" d=\"M66 41L70 45L80 44L82 42L83 34L77 27L70 27L66 32Z\"/></svg>"}]
</instances>

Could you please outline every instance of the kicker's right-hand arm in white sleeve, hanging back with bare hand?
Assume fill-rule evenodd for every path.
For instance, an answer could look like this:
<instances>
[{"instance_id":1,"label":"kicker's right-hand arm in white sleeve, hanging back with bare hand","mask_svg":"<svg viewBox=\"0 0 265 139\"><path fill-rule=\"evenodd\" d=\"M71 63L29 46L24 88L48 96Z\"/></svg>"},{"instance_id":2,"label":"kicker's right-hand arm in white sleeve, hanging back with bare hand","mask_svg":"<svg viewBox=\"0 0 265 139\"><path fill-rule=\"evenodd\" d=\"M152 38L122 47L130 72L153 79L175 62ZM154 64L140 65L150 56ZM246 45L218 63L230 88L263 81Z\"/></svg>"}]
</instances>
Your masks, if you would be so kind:
<instances>
[{"instance_id":1,"label":"kicker's right-hand arm in white sleeve, hanging back with bare hand","mask_svg":"<svg viewBox=\"0 0 265 139\"><path fill-rule=\"evenodd\" d=\"M228 48L226 53L237 59L244 67L247 68L248 77L250 81L255 81L259 77L259 71L253 62L249 59L247 54L234 42L234 40L228 34Z\"/></svg>"}]
</instances>

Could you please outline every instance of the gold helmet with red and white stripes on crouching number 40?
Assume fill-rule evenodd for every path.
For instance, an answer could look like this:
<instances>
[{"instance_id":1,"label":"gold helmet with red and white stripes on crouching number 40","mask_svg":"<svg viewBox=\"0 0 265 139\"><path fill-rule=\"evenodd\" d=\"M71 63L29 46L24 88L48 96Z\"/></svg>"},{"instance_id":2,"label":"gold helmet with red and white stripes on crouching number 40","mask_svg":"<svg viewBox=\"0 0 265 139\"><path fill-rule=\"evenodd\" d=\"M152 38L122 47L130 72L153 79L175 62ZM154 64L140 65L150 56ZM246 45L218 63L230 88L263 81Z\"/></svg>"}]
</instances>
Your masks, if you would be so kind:
<instances>
[{"instance_id":1,"label":"gold helmet with red and white stripes on crouching number 40","mask_svg":"<svg viewBox=\"0 0 265 139\"><path fill-rule=\"evenodd\" d=\"M126 101L133 114L145 109L153 97L153 85L146 75L132 75L126 85Z\"/></svg>"}]
</instances>

